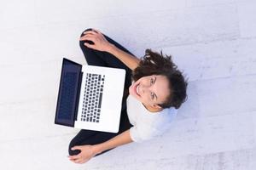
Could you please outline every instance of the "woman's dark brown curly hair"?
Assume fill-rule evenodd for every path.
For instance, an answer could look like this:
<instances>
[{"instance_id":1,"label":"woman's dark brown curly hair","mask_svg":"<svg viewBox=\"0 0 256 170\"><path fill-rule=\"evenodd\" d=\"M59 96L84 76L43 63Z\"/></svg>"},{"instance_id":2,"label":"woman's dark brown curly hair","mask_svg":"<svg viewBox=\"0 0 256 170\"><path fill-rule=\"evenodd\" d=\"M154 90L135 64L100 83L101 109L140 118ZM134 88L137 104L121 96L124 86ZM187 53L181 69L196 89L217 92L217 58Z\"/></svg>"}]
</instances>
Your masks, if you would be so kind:
<instances>
[{"instance_id":1,"label":"woman's dark brown curly hair","mask_svg":"<svg viewBox=\"0 0 256 170\"><path fill-rule=\"evenodd\" d=\"M164 103L158 104L160 107L175 107L178 109L187 100L188 82L184 79L183 73L177 69L177 65L172 62L172 56L163 55L146 49L143 59L138 67L132 71L132 79L137 81L141 77L151 75L162 75L168 79L170 94Z\"/></svg>"}]
</instances>

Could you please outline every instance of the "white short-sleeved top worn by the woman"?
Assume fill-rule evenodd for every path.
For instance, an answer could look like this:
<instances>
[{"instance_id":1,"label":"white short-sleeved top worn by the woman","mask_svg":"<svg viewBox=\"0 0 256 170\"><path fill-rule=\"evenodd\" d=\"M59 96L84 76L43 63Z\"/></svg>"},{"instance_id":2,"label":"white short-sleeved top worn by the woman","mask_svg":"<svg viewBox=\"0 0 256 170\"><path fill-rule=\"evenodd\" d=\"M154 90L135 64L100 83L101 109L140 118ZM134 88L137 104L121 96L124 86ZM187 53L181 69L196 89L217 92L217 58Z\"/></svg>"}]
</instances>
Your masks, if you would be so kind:
<instances>
[{"instance_id":1,"label":"white short-sleeved top worn by the woman","mask_svg":"<svg viewBox=\"0 0 256 170\"><path fill-rule=\"evenodd\" d=\"M165 133L177 116L177 109L174 107L150 112L131 95L128 96L126 103L127 115L133 125L130 128L130 135L134 142L141 143L143 140L153 139Z\"/></svg>"}]
</instances>

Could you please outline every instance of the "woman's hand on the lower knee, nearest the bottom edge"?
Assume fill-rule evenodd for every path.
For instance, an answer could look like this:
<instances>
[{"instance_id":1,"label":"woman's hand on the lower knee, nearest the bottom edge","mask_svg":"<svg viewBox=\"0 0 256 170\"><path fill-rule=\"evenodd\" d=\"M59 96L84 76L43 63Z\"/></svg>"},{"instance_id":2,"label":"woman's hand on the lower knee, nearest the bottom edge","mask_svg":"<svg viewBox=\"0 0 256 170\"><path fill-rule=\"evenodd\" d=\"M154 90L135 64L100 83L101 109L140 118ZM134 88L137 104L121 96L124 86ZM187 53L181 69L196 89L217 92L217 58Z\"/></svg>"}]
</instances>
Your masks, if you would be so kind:
<instances>
[{"instance_id":1,"label":"woman's hand on the lower knee, nearest the bottom edge","mask_svg":"<svg viewBox=\"0 0 256 170\"><path fill-rule=\"evenodd\" d=\"M97 154L96 147L94 145L74 146L71 150L81 150L81 152L76 156L68 156L69 160L74 163L84 163Z\"/></svg>"}]
</instances>

